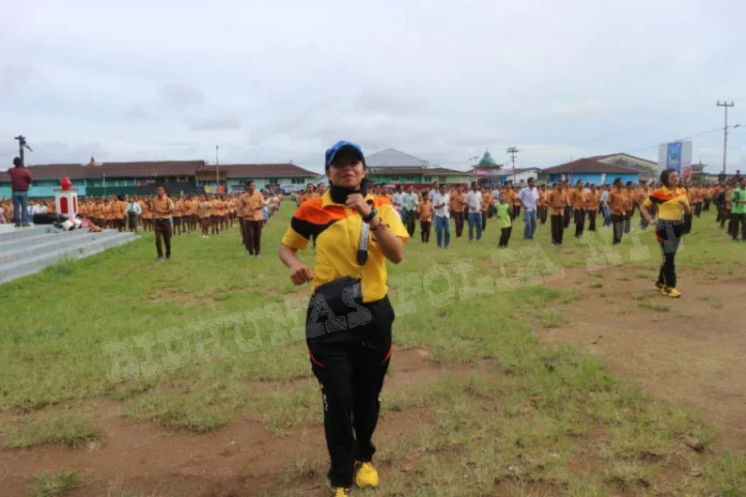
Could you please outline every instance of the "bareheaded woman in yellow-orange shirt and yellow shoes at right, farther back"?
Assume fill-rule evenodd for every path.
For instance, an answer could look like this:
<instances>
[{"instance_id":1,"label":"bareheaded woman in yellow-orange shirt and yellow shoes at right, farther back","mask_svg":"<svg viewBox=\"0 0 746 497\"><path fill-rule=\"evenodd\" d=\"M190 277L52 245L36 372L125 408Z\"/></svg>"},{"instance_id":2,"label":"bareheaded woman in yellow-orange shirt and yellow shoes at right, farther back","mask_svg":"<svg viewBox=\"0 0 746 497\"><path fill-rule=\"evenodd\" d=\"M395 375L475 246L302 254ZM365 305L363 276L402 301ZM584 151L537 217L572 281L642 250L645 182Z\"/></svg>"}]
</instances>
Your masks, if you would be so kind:
<instances>
[{"instance_id":1,"label":"bareheaded woman in yellow-orange shirt and yellow shoes at right, farther back","mask_svg":"<svg viewBox=\"0 0 746 497\"><path fill-rule=\"evenodd\" d=\"M666 169L660 174L662 187L654 190L640 206L640 212L655 227L656 238L663 255L655 288L668 297L681 297L676 289L676 250L686 230L684 215L691 215L686 191L679 188L679 174L675 169ZM658 207L657 222L650 213L651 206Z\"/></svg>"}]
</instances>

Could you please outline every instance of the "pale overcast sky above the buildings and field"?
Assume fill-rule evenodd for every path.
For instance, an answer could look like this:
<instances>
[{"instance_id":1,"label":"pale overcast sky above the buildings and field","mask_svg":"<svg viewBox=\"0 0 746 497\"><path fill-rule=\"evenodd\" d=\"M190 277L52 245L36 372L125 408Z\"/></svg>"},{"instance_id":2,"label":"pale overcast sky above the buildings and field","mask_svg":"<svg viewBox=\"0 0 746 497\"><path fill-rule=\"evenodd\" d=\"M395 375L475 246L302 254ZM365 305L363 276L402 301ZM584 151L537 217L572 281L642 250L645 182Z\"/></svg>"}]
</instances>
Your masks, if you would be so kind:
<instances>
[{"instance_id":1,"label":"pale overcast sky above the buildings and field","mask_svg":"<svg viewBox=\"0 0 746 497\"><path fill-rule=\"evenodd\" d=\"M746 170L742 0L4 0L0 161L286 162L339 139L468 168L723 126ZM722 130L693 158L722 167Z\"/></svg>"}]
</instances>

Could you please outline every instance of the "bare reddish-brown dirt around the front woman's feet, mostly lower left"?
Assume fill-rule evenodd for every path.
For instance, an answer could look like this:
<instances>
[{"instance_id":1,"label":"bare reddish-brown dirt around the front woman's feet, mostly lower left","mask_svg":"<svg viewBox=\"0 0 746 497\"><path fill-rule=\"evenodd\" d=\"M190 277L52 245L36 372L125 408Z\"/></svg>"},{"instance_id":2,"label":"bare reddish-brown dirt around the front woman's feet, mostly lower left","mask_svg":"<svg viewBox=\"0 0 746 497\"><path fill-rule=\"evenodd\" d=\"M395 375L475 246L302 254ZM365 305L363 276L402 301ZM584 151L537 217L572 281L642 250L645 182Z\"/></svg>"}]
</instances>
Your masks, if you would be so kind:
<instances>
[{"instance_id":1,"label":"bare reddish-brown dirt around the front woman's feet, mostly lower left","mask_svg":"<svg viewBox=\"0 0 746 497\"><path fill-rule=\"evenodd\" d=\"M451 373L430 361L427 351L396 350L384 393L432 384ZM125 407L117 402L90 402L85 411L90 424L104 432L103 443L81 449L0 449L1 497L28 496L37 475L63 469L78 470L84 480L68 494L73 497L256 496L289 484L292 495L326 495L322 426L275 437L257 420L242 418L212 434L193 434L125 420ZM380 420L377 437L415 430L424 415L418 408L389 412ZM388 470L381 467L384 475Z\"/></svg>"}]
</instances>

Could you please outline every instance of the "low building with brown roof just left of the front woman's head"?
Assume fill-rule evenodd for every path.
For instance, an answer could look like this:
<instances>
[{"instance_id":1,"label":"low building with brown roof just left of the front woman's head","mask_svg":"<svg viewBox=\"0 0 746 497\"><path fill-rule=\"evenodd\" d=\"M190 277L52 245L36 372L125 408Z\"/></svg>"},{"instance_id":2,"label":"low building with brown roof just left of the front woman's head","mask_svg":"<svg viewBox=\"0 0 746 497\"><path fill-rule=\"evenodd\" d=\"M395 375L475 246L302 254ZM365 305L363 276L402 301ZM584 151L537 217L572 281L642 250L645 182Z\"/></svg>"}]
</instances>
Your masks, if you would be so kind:
<instances>
[{"instance_id":1,"label":"low building with brown roof just left of the front woman's head","mask_svg":"<svg viewBox=\"0 0 746 497\"><path fill-rule=\"evenodd\" d=\"M231 193L245 191L248 180L253 180L257 189L298 191L304 189L307 183L314 183L319 174L290 163L206 165L197 174L197 186L214 191L216 176L219 176L221 185L228 186L228 193Z\"/></svg>"}]
</instances>

